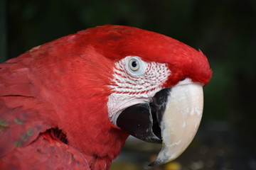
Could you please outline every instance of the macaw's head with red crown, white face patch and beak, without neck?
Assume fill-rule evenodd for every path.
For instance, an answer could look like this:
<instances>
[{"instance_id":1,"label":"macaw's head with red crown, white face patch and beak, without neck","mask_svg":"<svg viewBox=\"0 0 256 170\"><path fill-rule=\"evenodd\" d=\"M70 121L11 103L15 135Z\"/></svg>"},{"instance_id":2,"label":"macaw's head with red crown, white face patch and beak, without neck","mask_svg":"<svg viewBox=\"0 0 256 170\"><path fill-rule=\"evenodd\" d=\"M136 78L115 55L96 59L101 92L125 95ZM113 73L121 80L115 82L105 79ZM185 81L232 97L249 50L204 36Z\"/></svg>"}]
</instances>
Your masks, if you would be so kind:
<instances>
[{"instance_id":1,"label":"macaw's head with red crown, white face patch and beak, without neck","mask_svg":"<svg viewBox=\"0 0 256 170\"><path fill-rule=\"evenodd\" d=\"M198 129L203 86L212 71L201 51L164 35L127 26L80 32L112 64L107 113L134 137L163 144L153 164L178 157Z\"/></svg>"}]
</instances>

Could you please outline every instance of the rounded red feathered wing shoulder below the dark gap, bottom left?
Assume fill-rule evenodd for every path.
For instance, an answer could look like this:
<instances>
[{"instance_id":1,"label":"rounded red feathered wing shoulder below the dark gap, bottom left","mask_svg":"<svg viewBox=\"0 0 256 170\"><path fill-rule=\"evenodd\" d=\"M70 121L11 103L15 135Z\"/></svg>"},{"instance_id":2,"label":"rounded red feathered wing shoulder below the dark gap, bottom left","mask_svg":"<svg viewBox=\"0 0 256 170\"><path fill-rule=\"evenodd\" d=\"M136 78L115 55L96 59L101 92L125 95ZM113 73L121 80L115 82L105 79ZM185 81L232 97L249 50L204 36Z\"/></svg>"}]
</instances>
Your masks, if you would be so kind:
<instances>
[{"instance_id":1,"label":"rounded red feathered wing shoulder below the dark gap, bottom left","mask_svg":"<svg viewBox=\"0 0 256 170\"><path fill-rule=\"evenodd\" d=\"M18 147L0 161L1 169L90 169L77 149L39 136L26 147Z\"/></svg>"}]
</instances>

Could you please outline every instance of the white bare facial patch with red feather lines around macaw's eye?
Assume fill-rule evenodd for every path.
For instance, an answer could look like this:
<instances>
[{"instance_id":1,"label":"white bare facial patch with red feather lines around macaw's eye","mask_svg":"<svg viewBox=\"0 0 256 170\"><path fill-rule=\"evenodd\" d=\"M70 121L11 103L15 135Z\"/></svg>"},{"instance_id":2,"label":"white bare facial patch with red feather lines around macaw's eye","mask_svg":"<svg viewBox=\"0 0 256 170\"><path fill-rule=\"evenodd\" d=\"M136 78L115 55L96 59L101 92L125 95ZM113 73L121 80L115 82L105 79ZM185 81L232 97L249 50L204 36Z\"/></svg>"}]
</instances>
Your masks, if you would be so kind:
<instances>
[{"instance_id":1,"label":"white bare facial patch with red feather lines around macaw's eye","mask_svg":"<svg viewBox=\"0 0 256 170\"><path fill-rule=\"evenodd\" d=\"M127 56L115 63L107 102L108 115L116 125L118 115L127 107L149 102L162 89L171 71L166 64L144 62L140 57Z\"/></svg>"}]
</instances>

